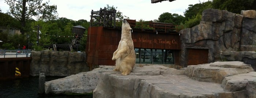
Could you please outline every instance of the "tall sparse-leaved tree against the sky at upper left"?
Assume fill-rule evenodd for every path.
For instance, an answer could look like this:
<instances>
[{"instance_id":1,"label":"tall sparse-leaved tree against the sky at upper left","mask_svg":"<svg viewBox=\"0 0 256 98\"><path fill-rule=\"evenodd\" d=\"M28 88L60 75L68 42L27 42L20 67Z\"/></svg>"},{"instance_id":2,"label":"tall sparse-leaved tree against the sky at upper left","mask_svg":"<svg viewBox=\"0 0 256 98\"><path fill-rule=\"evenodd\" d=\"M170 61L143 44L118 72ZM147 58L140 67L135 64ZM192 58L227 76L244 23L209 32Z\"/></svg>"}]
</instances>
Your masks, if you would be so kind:
<instances>
[{"instance_id":1,"label":"tall sparse-leaved tree against the sky at upper left","mask_svg":"<svg viewBox=\"0 0 256 98\"><path fill-rule=\"evenodd\" d=\"M43 0L5 0L10 6L9 14L18 19L21 23L21 33L29 31L26 28L26 21L36 17L37 19L51 20L57 18L57 6L48 5L49 0L42 3Z\"/></svg>"}]
</instances>

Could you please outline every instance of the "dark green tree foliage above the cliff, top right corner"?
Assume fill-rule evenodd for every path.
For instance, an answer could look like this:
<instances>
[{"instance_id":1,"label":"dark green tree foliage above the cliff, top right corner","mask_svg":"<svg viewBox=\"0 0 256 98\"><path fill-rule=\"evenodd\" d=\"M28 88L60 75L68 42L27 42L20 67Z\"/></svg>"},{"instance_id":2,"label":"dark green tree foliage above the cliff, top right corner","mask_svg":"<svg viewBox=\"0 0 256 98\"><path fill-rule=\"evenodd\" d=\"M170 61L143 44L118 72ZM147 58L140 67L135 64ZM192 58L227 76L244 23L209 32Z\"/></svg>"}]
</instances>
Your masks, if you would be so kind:
<instances>
[{"instance_id":1,"label":"dark green tree foliage above the cliff, top right corner","mask_svg":"<svg viewBox=\"0 0 256 98\"><path fill-rule=\"evenodd\" d=\"M255 0L213 0L214 9L240 14L241 10L256 10Z\"/></svg>"}]
</instances>

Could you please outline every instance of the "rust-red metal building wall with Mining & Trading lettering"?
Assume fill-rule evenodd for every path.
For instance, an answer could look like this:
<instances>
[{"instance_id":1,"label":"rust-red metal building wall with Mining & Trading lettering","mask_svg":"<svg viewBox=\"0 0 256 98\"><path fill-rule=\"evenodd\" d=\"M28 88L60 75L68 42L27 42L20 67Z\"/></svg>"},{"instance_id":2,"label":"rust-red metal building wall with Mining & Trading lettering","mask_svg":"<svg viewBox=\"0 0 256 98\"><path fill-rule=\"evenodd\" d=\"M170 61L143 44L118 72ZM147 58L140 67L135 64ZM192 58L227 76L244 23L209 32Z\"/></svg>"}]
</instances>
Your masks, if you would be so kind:
<instances>
[{"instance_id":1,"label":"rust-red metal building wall with Mining & Trading lettering","mask_svg":"<svg viewBox=\"0 0 256 98\"><path fill-rule=\"evenodd\" d=\"M131 34L134 48L180 50L179 34L152 33L134 30ZM121 38L120 29L89 27L86 43L87 63L93 65L114 65L112 55ZM179 58L179 53L176 55ZM177 62L178 63L178 62Z\"/></svg>"}]
</instances>

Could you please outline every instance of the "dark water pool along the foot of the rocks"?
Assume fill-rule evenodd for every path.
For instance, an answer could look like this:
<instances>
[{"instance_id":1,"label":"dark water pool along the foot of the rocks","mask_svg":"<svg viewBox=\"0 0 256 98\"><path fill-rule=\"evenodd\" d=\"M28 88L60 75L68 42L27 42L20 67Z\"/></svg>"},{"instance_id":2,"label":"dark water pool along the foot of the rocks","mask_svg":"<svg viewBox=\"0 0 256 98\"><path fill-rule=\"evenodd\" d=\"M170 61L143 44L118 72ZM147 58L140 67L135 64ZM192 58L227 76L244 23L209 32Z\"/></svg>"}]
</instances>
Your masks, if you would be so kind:
<instances>
[{"instance_id":1,"label":"dark water pool along the foot of the rocks","mask_svg":"<svg viewBox=\"0 0 256 98\"><path fill-rule=\"evenodd\" d=\"M46 81L63 78L46 76ZM92 98L92 95L38 94L38 76L0 81L0 98Z\"/></svg>"}]
</instances>

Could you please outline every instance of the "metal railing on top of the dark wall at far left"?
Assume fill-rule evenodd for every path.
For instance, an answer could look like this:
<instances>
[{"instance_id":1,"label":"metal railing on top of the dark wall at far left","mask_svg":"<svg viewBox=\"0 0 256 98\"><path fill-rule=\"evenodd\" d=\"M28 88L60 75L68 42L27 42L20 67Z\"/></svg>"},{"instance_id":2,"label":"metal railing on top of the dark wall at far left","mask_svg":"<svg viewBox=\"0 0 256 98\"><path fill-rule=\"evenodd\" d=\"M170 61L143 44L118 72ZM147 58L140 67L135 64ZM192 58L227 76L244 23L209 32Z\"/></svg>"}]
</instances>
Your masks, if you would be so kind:
<instances>
[{"instance_id":1,"label":"metal railing on top of the dark wall at far left","mask_svg":"<svg viewBox=\"0 0 256 98\"><path fill-rule=\"evenodd\" d=\"M31 50L0 50L0 58L30 57Z\"/></svg>"}]
</instances>

